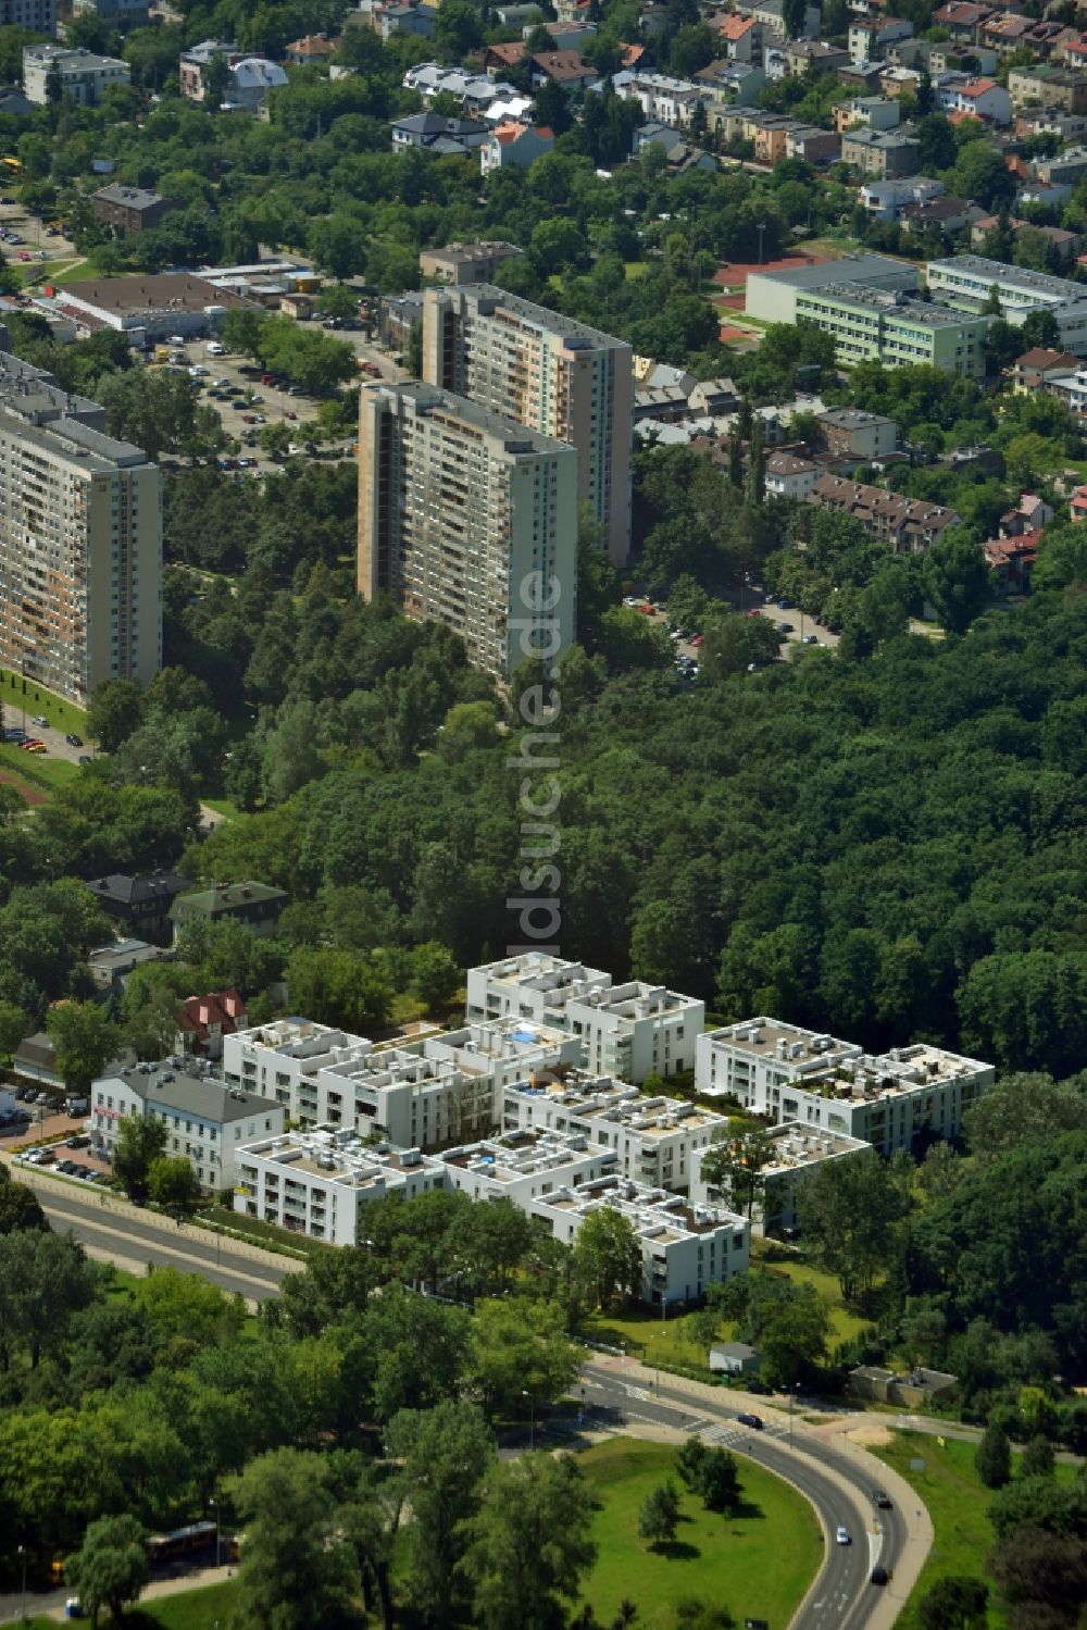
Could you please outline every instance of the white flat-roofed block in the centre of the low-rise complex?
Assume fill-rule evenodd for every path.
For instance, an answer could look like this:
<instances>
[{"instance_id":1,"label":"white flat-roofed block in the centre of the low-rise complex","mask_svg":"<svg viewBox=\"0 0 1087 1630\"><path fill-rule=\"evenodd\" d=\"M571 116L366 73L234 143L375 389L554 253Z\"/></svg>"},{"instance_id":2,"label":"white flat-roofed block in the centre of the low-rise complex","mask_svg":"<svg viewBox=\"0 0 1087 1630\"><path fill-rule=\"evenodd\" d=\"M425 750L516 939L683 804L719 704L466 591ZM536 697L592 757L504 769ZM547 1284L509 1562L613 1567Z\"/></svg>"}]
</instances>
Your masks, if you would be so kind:
<instances>
[{"instance_id":1,"label":"white flat-roofed block in the centre of the low-rise complex","mask_svg":"<svg viewBox=\"0 0 1087 1630\"><path fill-rule=\"evenodd\" d=\"M502 1126L585 1138L611 1149L621 1177L686 1193L698 1154L728 1126L683 1099L644 1097L636 1087L587 1071L541 1071L505 1089Z\"/></svg>"}]
</instances>

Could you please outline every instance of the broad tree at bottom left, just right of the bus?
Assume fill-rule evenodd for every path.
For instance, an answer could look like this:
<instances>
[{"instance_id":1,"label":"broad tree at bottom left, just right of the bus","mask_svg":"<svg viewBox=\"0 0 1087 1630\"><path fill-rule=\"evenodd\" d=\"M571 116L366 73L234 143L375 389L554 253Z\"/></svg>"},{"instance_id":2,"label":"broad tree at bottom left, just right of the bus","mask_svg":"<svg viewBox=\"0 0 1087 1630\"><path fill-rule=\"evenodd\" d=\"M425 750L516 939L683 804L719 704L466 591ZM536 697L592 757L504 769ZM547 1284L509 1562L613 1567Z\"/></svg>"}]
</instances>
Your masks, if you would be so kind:
<instances>
[{"instance_id":1,"label":"broad tree at bottom left, just right of the bus","mask_svg":"<svg viewBox=\"0 0 1087 1630\"><path fill-rule=\"evenodd\" d=\"M231 1485L246 1524L238 1568L238 1630L328 1630L359 1589L354 1552L339 1532L329 1464L275 1449Z\"/></svg>"}]
</instances>

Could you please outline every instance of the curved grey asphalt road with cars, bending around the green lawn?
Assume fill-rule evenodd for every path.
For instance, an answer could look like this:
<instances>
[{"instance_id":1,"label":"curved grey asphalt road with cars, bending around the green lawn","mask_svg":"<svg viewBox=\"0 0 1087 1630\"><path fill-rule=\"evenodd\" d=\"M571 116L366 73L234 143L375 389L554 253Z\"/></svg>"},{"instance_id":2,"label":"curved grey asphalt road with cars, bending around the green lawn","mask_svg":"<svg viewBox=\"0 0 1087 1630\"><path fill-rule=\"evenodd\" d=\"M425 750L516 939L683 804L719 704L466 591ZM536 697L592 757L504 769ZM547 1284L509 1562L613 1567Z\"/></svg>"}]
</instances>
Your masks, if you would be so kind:
<instances>
[{"instance_id":1,"label":"curved grey asphalt road with cars, bending around the green lawn","mask_svg":"<svg viewBox=\"0 0 1087 1630\"><path fill-rule=\"evenodd\" d=\"M888 1622L891 1602L887 1589L872 1584L869 1576L877 1562L888 1571L895 1568L906 1542L906 1519L901 1511L890 1509L880 1511L877 1521L872 1483L847 1454L825 1439L805 1443L800 1431L790 1447L789 1426L769 1415L763 1431L742 1426L735 1397L728 1394L722 1394L720 1405L707 1403L702 1397L670 1387L667 1376L658 1377L657 1387L645 1387L592 1361L583 1366L582 1376L587 1403L603 1403L627 1420L699 1431L707 1443L748 1456L807 1495L820 1516L826 1558L790 1630L867 1630ZM834 1542L839 1524L849 1529L852 1544ZM730 1606L743 1614L742 1602Z\"/></svg>"}]
</instances>

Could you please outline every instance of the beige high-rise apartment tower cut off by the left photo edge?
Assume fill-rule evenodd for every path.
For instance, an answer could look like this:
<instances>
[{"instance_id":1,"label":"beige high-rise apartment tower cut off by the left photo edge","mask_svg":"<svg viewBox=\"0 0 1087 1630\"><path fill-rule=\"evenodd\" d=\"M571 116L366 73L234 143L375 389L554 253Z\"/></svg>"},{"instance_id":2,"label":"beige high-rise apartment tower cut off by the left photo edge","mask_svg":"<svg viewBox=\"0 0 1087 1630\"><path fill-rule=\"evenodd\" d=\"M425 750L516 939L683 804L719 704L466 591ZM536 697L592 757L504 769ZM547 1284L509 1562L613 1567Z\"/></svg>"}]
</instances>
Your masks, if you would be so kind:
<instances>
[{"instance_id":1,"label":"beige high-rise apartment tower cut off by the left photo edge","mask_svg":"<svg viewBox=\"0 0 1087 1630\"><path fill-rule=\"evenodd\" d=\"M150 683L161 575L158 466L0 349L0 662L80 704L101 680Z\"/></svg>"}]
</instances>

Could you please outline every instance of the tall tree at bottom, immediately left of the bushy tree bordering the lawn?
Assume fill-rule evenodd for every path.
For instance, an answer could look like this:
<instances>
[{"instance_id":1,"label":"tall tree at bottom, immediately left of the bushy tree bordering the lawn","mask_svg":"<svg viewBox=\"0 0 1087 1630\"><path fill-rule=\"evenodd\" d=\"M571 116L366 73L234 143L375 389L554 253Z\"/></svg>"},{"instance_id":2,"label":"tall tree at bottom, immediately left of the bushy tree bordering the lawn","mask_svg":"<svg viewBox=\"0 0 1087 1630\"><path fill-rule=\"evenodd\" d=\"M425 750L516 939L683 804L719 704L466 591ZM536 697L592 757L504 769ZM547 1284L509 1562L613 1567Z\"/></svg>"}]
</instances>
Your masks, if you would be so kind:
<instances>
[{"instance_id":1,"label":"tall tree at bottom, immediately left of the bushy tree bordering the lawn","mask_svg":"<svg viewBox=\"0 0 1087 1630\"><path fill-rule=\"evenodd\" d=\"M474 1403L448 1400L394 1415L385 1446L401 1462L403 1493L411 1504L412 1594L432 1622L456 1622L466 1606L458 1571L464 1524L479 1509L482 1478L495 1459L494 1436Z\"/></svg>"}]
</instances>

